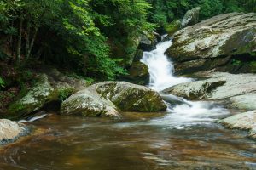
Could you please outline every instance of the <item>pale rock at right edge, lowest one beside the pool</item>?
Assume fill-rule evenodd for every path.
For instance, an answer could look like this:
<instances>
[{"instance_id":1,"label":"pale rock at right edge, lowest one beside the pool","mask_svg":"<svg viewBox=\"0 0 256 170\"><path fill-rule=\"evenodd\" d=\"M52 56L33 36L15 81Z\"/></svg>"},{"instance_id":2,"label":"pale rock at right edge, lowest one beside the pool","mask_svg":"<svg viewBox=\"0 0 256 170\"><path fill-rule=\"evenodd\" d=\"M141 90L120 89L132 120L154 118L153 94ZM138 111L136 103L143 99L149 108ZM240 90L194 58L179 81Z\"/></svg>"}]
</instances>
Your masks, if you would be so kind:
<instances>
[{"instance_id":1,"label":"pale rock at right edge, lowest one beside the pool","mask_svg":"<svg viewBox=\"0 0 256 170\"><path fill-rule=\"evenodd\" d=\"M248 131L249 136L256 139L256 111L249 111L235 116L230 116L218 123L233 129L241 129Z\"/></svg>"}]
</instances>

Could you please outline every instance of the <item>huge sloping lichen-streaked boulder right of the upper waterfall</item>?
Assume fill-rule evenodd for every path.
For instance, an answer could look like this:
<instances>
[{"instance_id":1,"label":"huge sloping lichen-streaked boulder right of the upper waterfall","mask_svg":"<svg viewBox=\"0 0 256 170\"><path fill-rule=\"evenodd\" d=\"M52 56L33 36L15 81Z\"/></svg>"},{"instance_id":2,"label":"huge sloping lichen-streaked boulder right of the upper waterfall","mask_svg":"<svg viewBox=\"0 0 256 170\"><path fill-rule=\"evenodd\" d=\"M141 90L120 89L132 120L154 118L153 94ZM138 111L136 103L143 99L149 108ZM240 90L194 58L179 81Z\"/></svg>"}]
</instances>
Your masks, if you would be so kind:
<instances>
[{"instance_id":1,"label":"huge sloping lichen-streaked boulder right of the upper waterfall","mask_svg":"<svg viewBox=\"0 0 256 170\"><path fill-rule=\"evenodd\" d=\"M177 74L221 68L256 52L256 14L220 14L177 31L166 54ZM247 57L247 59L253 59Z\"/></svg>"}]
</instances>

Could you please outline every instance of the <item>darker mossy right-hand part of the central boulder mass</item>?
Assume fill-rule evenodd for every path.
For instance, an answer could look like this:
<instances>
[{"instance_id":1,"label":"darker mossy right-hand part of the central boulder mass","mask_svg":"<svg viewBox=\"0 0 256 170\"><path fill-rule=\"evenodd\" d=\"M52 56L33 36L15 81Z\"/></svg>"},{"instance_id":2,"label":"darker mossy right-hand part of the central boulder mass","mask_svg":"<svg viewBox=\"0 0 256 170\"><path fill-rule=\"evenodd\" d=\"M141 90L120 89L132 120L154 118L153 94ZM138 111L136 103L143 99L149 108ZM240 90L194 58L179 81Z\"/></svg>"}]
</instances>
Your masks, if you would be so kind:
<instances>
[{"instance_id":1,"label":"darker mossy right-hand part of the central boulder mass","mask_svg":"<svg viewBox=\"0 0 256 170\"><path fill-rule=\"evenodd\" d=\"M150 88L129 82L101 82L90 88L95 88L102 98L112 101L121 111L166 111L160 94Z\"/></svg>"}]
</instances>

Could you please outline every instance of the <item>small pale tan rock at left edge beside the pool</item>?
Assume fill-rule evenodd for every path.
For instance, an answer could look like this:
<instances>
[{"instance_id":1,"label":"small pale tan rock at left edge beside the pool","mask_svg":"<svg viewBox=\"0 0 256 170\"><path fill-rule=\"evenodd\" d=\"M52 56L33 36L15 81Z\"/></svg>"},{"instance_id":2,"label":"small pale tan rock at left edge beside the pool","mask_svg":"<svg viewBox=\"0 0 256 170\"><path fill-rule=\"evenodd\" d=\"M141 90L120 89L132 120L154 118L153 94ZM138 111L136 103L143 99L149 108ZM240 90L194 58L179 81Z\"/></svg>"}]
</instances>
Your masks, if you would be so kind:
<instances>
[{"instance_id":1,"label":"small pale tan rock at left edge beside the pool","mask_svg":"<svg viewBox=\"0 0 256 170\"><path fill-rule=\"evenodd\" d=\"M25 124L0 119L0 145L14 142L27 133L29 133L29 129Z\"/></svg>"}]
</instances>

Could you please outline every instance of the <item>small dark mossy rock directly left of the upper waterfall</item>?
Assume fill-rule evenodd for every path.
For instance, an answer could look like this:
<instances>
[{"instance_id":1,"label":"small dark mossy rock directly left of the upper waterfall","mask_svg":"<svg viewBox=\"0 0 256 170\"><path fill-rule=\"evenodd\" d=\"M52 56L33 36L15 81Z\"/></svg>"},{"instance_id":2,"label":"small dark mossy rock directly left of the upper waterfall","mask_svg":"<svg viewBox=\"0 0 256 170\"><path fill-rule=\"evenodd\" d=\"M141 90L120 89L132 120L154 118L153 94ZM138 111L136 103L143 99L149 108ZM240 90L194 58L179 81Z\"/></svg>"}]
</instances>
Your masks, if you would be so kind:
<instances>
[{"instance_id":1,"label":"small dark mossy rock directly left of the upper waterfall","mask_svg":"<svg viewBox=\"0 0 256 170\"><path fill-rule=\"evenodd\" d=\"M149 82L148 65L137 61L129 69L129 80L135 84L146 85Z\"/></svg>"}]
</instances>

